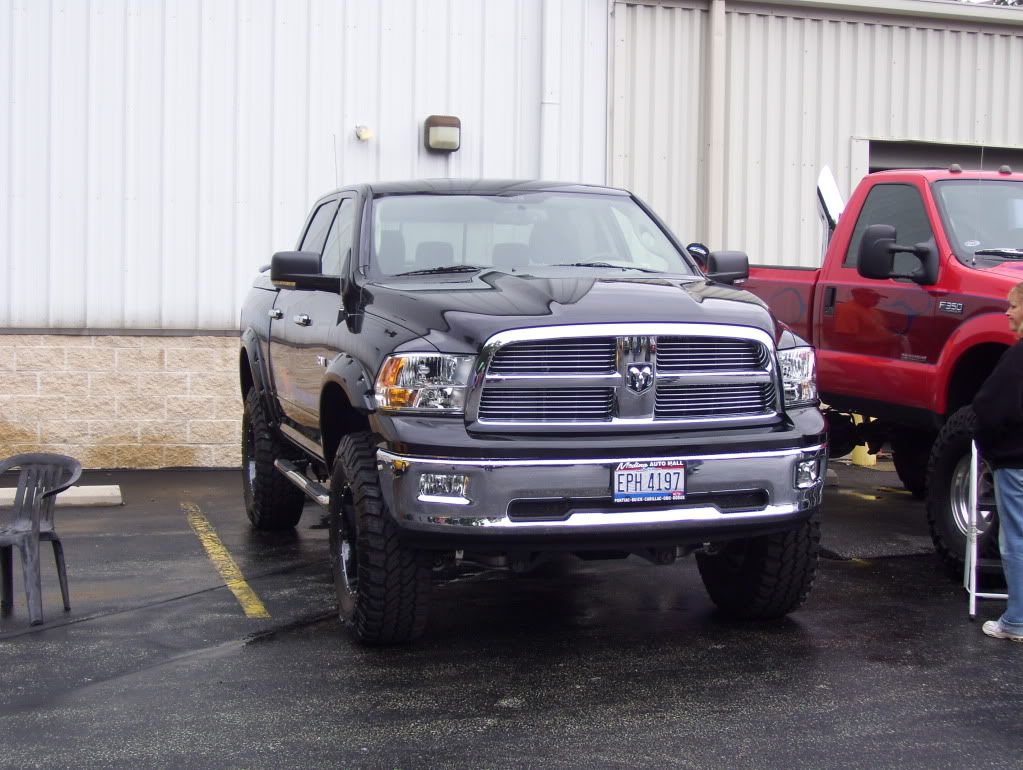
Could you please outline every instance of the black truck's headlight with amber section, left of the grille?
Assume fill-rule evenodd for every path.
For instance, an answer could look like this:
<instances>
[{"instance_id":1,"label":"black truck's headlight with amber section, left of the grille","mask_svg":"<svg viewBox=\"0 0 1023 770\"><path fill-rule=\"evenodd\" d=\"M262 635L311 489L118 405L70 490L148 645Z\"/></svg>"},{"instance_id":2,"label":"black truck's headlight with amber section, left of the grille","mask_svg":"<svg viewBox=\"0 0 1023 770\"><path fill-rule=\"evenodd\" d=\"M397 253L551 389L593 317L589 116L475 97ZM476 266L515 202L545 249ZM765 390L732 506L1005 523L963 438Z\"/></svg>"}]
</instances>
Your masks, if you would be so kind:
<instances>
[{"instance_id":1,"label":"black truck's headlight with amber section, left of the grille","mask_svg":"<svg viewBox=\"0 0 1023 770\"><path fill-rule=\"evenodd\" d=\"M443 353L389 356L376 375L376 406L385 411L462 412L475 360Z\"/></svg>"}]
</instances>

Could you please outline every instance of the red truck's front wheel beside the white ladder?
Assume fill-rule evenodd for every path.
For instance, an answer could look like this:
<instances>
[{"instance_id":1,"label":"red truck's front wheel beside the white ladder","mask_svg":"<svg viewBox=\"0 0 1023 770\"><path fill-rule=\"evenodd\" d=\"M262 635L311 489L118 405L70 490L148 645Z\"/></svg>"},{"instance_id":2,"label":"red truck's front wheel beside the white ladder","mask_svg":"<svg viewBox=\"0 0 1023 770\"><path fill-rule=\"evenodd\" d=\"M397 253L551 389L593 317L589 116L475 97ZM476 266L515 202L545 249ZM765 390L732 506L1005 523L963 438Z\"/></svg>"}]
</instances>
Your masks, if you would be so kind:
<instances>
[{"instance_id":1,"label":"red truck's front wheel beside the white ladder","mask_svg":"<svg viewBox=\"0 0 1023 770\"><path fill-rule=\"evenodd\" d=\"M952 414L938 434L927 471L927 522L934 548L957 575L962 575L966 558L966 534L970 512L970 463L976 417L963 407ZM990 511L993 505L990 470L982 463L978 506ZM977 548L982 557L998 555L997 524L993 514L977 518Z\"/></svg>"}]
</instances>

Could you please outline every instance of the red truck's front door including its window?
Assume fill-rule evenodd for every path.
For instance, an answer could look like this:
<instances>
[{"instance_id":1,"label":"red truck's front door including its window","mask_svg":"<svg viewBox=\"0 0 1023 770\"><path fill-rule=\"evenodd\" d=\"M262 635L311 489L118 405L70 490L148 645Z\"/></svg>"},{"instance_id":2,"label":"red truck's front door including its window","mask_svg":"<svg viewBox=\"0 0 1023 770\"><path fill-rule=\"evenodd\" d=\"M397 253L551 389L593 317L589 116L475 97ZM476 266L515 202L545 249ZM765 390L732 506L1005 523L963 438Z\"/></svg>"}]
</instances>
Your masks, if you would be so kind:
<instances>
[{"instance_id":1,"label":"red truck's front door including its window","mask_svg":"<svg viewBox=\"0 0 1023 770\"><path fill-rule=\"evenodd\" d=\"M908 279L869 280L856 257L870 225L896 228L899 243L935 241L936 220L923 182L887 176L858 194L843 214L814 297L817 366L828 391L927 408L943 339L934 328L936 297ZM849 219L854 220L850 225ZM851 227L851 230L850 230ZM919 267L913 255L895 268Z\"/></svg>"}]
</instances>

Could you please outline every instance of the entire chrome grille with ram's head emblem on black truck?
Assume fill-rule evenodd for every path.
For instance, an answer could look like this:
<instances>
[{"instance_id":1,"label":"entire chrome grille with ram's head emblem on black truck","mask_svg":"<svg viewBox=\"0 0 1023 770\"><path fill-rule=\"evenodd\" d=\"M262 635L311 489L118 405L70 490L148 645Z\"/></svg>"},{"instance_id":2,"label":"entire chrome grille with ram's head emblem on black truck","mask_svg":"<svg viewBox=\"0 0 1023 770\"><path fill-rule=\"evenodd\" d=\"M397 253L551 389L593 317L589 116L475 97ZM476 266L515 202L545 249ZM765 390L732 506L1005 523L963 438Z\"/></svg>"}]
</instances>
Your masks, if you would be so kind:
<instances>
[{"instance_id":1,"label":"entire chrome grille with ram's head emblem on black truck","mask_svg":"<svg viewBox=\"0 0 1023 770\"><path fill-rule=\"evenodd\" d=\"M656 330L683 325L657 324ZM532 330L543 338L515 338L528 337L524 330L488 344L470 419L508 428L750 424L769 422L781 409L764 334L732 327L706 333L701 326L704 333L601 335L578 328L579 336ZM642 331L643 325L615 328Z\"/></svg>"}]
</instances>

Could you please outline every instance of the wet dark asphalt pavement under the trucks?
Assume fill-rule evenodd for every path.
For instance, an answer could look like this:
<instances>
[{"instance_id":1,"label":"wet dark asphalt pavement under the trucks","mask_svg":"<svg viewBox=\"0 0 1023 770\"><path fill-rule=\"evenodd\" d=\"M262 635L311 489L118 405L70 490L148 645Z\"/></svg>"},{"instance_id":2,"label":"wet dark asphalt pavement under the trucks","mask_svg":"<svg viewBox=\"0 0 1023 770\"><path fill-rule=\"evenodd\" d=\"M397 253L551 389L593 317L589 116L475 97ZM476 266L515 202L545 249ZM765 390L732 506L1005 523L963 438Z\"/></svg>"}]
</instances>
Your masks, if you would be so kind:
<instances>
[{"instance_id":1,"label":"wet dark asphalt pavement under the trucks","mask_svg":"<svg viewBox=\"0 0 1023 770\"><path fill-rule=\"evenodd\" d=\"M437 586L426 637L385 649L335 618L318 509L261 535L237 472L87 473L126 504L57 510L71 613L46 554L43 626L16 577L0 767L1019 767L1023 645L980 631L1002 602L971 622L923 504L835 467L817 585L783 621L718 618L693 559L566 557Z\"/></svg>"}]
</instances>

